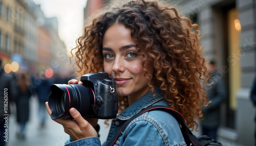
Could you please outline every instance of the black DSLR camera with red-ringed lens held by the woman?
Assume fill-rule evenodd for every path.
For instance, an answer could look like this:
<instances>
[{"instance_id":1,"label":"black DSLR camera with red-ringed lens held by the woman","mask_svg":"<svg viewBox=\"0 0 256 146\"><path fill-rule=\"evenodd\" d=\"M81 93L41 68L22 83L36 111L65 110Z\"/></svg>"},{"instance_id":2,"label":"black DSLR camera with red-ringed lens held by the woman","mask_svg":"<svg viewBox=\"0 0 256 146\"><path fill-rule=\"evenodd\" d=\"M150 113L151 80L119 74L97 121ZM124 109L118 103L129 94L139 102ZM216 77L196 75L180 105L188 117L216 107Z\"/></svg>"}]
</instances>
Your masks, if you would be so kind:
<instances>
[{"instance_id":1,"label":"black DSLR camera with red-ringed lens held by the woman","mask_svg":"<svg viewBox=\"0 0 256 146\"><path fill-rule=\"evenodd\" d=\"M82 116L100 119L115 118L118 112L118 96L115 80L106 72L81 76L80 84L53 84L48 103L52 119L72 118L70 108L76 108Z\"/></svg>"}]
</instances>

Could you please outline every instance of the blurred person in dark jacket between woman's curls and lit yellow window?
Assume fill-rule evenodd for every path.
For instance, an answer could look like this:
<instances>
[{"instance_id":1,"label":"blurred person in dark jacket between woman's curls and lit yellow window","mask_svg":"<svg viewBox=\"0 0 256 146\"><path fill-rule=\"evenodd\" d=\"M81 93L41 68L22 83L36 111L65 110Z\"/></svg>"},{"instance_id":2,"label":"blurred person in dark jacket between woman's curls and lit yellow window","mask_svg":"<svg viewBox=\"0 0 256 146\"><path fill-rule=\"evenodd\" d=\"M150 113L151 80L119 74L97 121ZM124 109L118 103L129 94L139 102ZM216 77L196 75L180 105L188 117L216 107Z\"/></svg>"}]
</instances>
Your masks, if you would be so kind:
<instances>
[{"instance_id":1,"label":"blurred person in dark jacket between woman's curls and lit yellow window","mask_svg":"<svg viewBox=\"0 0 256 146\"><path fill-rule=\"evenodd\" d=\"M211 103L202 107L204 115L201 121L202 134L217 139L217 131L221 123L221 105L226 100L226 89L222 76L216 71L215 60L209 61L205 66L210 78L204 87L207 100Z\"/></svg>"}]
</instances>

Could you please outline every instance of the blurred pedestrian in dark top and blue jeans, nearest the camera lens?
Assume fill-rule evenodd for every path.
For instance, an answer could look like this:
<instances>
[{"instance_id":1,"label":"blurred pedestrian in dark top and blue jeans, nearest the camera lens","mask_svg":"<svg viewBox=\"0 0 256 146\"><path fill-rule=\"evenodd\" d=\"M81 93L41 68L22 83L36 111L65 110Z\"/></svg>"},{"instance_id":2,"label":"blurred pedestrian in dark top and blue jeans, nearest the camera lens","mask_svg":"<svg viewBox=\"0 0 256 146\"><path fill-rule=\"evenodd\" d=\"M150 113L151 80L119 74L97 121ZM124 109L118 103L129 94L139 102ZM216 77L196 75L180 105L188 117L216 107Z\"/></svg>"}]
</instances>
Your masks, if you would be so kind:
<instances>
[{"instance_id":1,"label":"blurred pedestrian in dark top and blue jeans, nearest the camera lens","mask_svg":"<svg viewBox=\"0 0 256 146\"><path fill-rule=\"evenodd\" d=\"M47 110L45 103L48 101L48 96L51 93L51 81L46 78L45 74L40 75L40 84L36 88L38 98L38 118L40 122L40 129L45 127Z\"/></svg>"}]
</instances>

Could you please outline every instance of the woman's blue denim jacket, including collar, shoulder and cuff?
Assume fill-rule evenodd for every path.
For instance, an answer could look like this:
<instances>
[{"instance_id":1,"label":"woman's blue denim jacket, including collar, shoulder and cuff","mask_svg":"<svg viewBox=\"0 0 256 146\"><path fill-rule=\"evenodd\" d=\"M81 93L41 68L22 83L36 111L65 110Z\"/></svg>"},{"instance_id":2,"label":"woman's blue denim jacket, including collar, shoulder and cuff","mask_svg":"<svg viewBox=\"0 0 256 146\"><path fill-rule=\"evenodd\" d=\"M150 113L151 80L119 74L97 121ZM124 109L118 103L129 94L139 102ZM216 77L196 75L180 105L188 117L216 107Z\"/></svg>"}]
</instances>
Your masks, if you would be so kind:
<instances>
[{"instance_id":1,"label":"woman's blue denim jacket, including collar, shoulder and cuff","mask_svg":"<svg viewBox=\"0 0 256 146\"><path fill-rule=\"evenodd\" d=\"M151 105L168 105L160 89L155 89L154 94L156 96L152 96L151 92L146 93L113 119L108 138L102 145L108 144L124 122L143 108ZM66 143L67 146L101 144L98 137L88 137L76 141L70 139ZM177 120L165 111L154 110L145 112L131 121L114 145L181 146L186 143Z\"/></svg>"}]
</instances>

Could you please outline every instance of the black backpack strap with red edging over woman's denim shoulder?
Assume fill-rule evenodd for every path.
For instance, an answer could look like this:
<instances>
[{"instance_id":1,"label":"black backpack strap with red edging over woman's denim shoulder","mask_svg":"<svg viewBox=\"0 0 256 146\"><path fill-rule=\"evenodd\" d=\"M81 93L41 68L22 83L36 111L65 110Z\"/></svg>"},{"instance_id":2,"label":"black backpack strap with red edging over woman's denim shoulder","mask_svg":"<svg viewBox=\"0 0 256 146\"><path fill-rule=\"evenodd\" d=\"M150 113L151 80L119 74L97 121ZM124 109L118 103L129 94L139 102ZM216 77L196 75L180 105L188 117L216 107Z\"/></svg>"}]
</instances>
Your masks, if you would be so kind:
<instances>
[{"instance_id":1,"label":"black backpack strap with red edging over woman's denim shoulder","mask_svg":"<svg viewBox=\"0 0 256 146\"><path fill-rule=\"evenodd\" d=\"M186 144L187 145L192 144L192 145L197 145L197 146L201 146L202 145L198 141L197 137L186 126L184 117L178 111L173 110L171 108L168 108L166 106L157 105L157 106L146 107L145 109L142 109L139 113L137 113L136 115L134 115L130 119L126 120L125 123L122 125L122 127L117 132L117 134L111 139L111 141L109 142L108 146L114 145L114 143L117 140L117 138L119 137L120 133L124 132L125 128L131 123L132 120L134 120L136 117L138 117L142 113L147 112L147 111L151 111L151 110L163 110L163 111L166 111L166 112L172 114L176 118L178 123L180 124L181 132L182 132L182 135L183 135L183 137L185 139Z\"/></svg>"}]
</instances>

